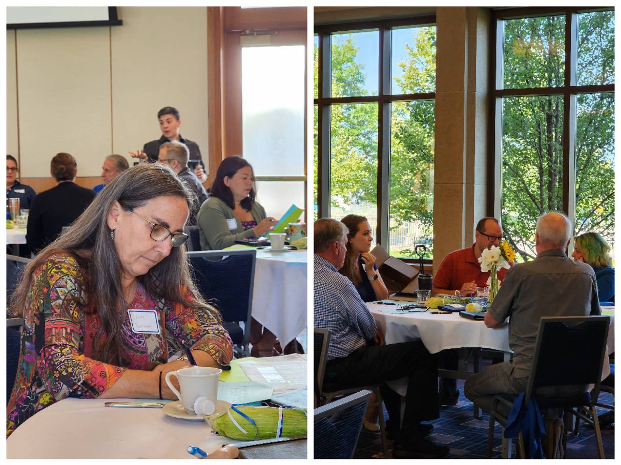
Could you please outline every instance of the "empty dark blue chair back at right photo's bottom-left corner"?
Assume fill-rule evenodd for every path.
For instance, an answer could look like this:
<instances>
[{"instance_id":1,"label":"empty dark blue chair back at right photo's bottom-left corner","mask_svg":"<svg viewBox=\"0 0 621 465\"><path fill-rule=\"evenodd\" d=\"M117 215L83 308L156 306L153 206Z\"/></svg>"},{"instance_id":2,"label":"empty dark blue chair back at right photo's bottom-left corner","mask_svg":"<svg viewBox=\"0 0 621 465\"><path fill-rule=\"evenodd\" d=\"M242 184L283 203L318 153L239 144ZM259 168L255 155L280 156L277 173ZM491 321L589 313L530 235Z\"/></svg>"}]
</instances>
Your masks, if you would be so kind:
<instances>
[{"instance_id":1,"label":"empty dark blue chair back at right photo's bottom-left corner","mask_svg":"<svg viewBox=\"0 0 621 465\"><path fill-rule=\"evenodd\" d=\"M364 390L315 409L315 459L353 458L369 397Z\"/></svg>"}]
</instances>

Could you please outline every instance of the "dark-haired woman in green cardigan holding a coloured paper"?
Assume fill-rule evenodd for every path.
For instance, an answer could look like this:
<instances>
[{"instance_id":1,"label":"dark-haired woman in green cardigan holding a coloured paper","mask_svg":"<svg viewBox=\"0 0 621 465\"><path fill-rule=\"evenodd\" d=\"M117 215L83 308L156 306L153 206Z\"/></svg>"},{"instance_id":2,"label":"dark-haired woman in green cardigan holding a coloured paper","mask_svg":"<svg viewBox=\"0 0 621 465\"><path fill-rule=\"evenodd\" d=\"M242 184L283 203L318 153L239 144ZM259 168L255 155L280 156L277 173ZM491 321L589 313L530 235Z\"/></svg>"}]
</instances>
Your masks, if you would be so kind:
<instances>
[{"instance_id":1,"label":"dark-haired woman in green cardigan holding a coloured paper","mask_svg":"<svg viewBox=\"0 0 621 465\"><path fill-rule=\"evenodd\" d=\"M202 250L222 250L245 237L265 235L277 221L255 201L255 174L241 156L227 156L215 174L211 197L197 214ZM252 318L252 356L271 356L276 336Z\"/></svg>"}]
</instances>

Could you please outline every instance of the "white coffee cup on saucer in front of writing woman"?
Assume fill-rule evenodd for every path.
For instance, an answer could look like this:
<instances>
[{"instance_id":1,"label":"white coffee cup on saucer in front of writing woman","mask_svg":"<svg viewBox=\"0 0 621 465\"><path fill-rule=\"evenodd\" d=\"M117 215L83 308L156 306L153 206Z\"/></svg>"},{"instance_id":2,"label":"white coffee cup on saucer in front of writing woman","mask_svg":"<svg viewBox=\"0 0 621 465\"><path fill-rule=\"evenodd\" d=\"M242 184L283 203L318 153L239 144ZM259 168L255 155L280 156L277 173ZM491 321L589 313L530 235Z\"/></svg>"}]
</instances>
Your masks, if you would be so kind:
<instances>
[{"instance_id":1,"label":"white coffee cup on saucer in front of writing woman","mask_svg":"<svg viewBox=\"0 0 621 465\"><path fill-rule=\"evenodd\" d=\"M194 402L199 397L205 397L215 408L221 372L221 369L209 366L188 366L166 373L166 384L175 393L177 399L181 401L186 412L189 415L196 415L196 412L194 412ZM177 377L181 392L177 391L175 386L173 386L173 383L170 381L171 376ZM201 413L209 415L212 412L202 411Z\"/></svg>"}]
</instances>

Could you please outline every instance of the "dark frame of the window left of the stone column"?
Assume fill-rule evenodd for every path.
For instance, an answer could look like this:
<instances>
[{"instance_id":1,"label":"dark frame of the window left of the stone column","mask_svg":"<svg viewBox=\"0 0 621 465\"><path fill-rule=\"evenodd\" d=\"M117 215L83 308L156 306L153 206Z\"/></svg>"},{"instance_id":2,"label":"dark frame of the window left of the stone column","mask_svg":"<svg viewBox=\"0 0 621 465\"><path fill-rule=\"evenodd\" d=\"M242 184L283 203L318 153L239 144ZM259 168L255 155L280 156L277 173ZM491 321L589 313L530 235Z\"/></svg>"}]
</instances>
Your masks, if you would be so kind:
<instances>
[{"instance_id":1,"label":"dark frame of the window left of the stone column","mask_svg":"<svg viewBox=\"0 0 621 465\"><path fill-rule=\"evenodd\" d=\"M335 104L375 103L378 105L378 177L376 240L388 244L390 224L390 157L391 157L391 104L401 101L435 101L430 93L391 94L392 29L425 27L436 24L435 15L407 17L394 20L375 20L318 25L314 32L319 38L317 97L317 217L328 217L330 212L330 107ZM332 33L379 31L378 95L356 97L330 96L330 51ZM405 261L413 261L405 259ZM425 260L426 263L429 260Z\"/></svg>"}]
</instances>

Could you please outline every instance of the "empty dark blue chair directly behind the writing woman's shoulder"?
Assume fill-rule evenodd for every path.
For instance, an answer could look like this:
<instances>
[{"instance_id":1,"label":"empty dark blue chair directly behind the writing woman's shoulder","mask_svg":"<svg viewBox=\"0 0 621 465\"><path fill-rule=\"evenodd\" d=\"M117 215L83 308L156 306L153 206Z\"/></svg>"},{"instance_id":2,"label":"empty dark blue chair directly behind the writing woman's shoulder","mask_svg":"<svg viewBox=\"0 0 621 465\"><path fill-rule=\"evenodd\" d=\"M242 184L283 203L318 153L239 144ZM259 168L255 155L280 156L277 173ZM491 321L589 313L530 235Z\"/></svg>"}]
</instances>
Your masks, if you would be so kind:
<instances>
[{"instance_id":1,"label":"empty dark blue chair directly behind the writing woman's shoulder","mask_svg":"<svg viewBox=\"0 0 621 465\"><path fill-rule=\"evenodd\" d=\"M188 260L194 284L220 311L237 356L248 356L256 250L188 252Z\"/></svg>"}]
</instances>

